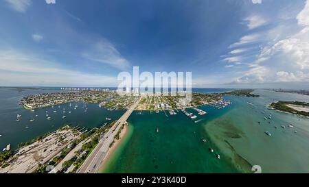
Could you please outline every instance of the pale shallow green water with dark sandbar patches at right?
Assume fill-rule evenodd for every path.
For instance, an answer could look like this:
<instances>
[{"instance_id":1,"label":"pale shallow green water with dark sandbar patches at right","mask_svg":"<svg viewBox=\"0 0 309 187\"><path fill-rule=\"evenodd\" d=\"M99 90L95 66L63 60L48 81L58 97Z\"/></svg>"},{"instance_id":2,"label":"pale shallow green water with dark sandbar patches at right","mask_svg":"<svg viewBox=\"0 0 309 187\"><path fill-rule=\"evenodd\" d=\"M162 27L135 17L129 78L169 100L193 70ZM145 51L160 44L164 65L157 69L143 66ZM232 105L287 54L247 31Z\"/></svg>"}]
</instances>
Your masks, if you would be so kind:
<instances>
[{"instance_id":1,"label":"pale shallow green water with dark sandbar patches at right","mask_svg":"<svg viewBox=\"0 0 309 187\"><path fill-rule=\"evenodd\" d=\"M279 100L308 102L309 97L269 90L256 90L255 93L261 97L231 98L233 110L205 125L211 140L232 158L234 164L241 165L236 159L236 155L240 155L251 164L260 165L264 173L308 173L309 119L267 110L266 105ZM270 113L272 119L265 121L264 117ZM295 127L289 128L289 124ZM266 136L264 132L270 132L272 136Z\"/></svg>"}]
</instances>

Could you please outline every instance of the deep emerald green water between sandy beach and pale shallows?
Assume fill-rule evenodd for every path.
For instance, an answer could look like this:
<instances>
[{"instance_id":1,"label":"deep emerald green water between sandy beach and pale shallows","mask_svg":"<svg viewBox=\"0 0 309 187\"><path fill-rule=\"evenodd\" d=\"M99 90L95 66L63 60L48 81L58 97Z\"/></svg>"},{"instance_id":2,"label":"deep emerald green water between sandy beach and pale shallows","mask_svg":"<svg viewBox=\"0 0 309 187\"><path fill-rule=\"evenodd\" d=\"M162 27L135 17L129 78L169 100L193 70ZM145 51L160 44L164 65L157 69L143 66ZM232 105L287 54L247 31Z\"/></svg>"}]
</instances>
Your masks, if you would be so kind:
<instances>
[{"instance_id":1,"label":"deep emerald green water between sandy beach and pale shallows","mask_svg":"<svg viewBox=\"0 0 309 187\"><path fill-rule=\"evenodd\" d=\"M134 112L128 119L129 133L113 154L103 173L238 173L229 158L209 141L204 125L231 108L201 109L207 115L192 120L181 111L175 116L163 112ZM195 121L200 121L195 123ZM159 129L159 132L157 132ZM202 138L208 140L203 142ZM214 153L209 151L214 149ZM218 160L216 154L220 154Z\"/></svg>"}]
</instances>

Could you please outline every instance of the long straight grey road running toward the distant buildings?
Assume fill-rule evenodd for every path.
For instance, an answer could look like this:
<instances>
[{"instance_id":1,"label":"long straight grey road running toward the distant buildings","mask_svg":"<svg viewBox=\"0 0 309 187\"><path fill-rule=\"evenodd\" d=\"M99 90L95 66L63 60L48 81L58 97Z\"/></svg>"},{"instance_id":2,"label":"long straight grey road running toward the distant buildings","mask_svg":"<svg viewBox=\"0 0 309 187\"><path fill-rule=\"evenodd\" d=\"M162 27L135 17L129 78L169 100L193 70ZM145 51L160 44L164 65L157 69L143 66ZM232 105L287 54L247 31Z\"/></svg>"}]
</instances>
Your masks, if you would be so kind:
<instances>
[{"instance_id":1,"label":"long straight grey road running toward the distant buildings","mask_svg":"<svg viewBox=\"0 0 309 187\"><path fill-rule=\"evenodd\" d=\"M84 161L84 164L80 167L78 173L98 173L98 169L100 165L106 158L109 145L114 140L114 136L119 131L120 127L128 120L128 117L137 107L139 101L141 101L141 97L137 99L133 105L118 119L118 121L108 130L106 134L104 134L103 138L99 141L98 145L93 149L89 157Z\"/></svg>"}]
</instances>

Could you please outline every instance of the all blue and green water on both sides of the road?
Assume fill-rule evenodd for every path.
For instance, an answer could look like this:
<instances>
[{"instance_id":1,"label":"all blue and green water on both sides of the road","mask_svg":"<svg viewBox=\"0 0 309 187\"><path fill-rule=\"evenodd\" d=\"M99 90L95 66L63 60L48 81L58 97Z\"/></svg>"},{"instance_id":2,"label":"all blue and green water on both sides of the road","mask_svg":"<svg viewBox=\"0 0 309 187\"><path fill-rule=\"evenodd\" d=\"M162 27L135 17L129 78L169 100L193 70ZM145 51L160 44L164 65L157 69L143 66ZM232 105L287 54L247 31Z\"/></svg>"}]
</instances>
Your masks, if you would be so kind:
<instances>
[{"instance_id":1,"label":"all blue and green water on both sides of the road","mask_svg":"<svg viewBox=\"0 0 309 187\"><path fill-rule=\"evenodd\" d=\"M78 103L78 110L68 104L30 112L19 105L26 95L60 90L0 89L0 148L11 143L26 142L46 132L52 132L65 123L91 129L106 123L105 118L117 119L124 111L108 111L95 104ZM222 92L222 89L198 89L197 92ZM226 97L233 101L218 110L202 106L207 115L192 120L177 112L166 117L163 112L133 112L128 136L106 165L106 173L239 173L250 172L252 165L260 165L264 173L308 173L309 119L295 114L267 110L273 101L309 101L305 95L256 90L260 98ZM72 103L75 105L75 103ZM63 108L69 113L62 113ZM52 111L56 109L57 113ZM46 111L52 121L46 120ZM272 119L264 117L272 114ZM16 115L21 122L16 123ZM35 115L38 115L37 117ZM66 115L66 119L62 116ZM30 123L31 118L36 121ZM201 121L194 123L194 121ZM260 121L260 125L258 124ZM270 122L270 123L269 123ZM293 124L294 128L288 128ZM286 129L280 126L285 125ZM275 126L277 129L275 129ZM29 127L26 129L25 127ZM159 133L157 132L159 128ZM266 136L264 132L271 132ZM295 134L295 131L297 133ZM206 138L207 143L201 138ZM215 153L210 153L209 147ZM220 154L218 160L215 154Z\"/></svg>"}]
</instances>

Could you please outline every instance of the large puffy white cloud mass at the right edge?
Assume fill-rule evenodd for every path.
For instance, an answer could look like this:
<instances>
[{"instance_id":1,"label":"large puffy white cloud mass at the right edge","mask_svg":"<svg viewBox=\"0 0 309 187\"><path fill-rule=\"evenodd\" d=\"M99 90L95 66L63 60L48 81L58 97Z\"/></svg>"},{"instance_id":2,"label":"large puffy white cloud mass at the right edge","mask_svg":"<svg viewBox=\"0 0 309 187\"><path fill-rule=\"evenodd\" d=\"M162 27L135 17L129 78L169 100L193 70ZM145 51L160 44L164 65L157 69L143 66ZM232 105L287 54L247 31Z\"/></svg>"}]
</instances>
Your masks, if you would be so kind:
<instances>
[{"instance_id":1,"label":"large puffy white cloud mass at the right edge","mask_svg":"<svg viewBox=\"0 0 309 187\"><path fill-rule=\"evenodd\" d=\"M293 34L290 30L285 35L282 32L277 39L269 41L237 82L309 82L308 17L309 0L297 15L298 25L294 25Z\"/></svg>"}]
</instances>

